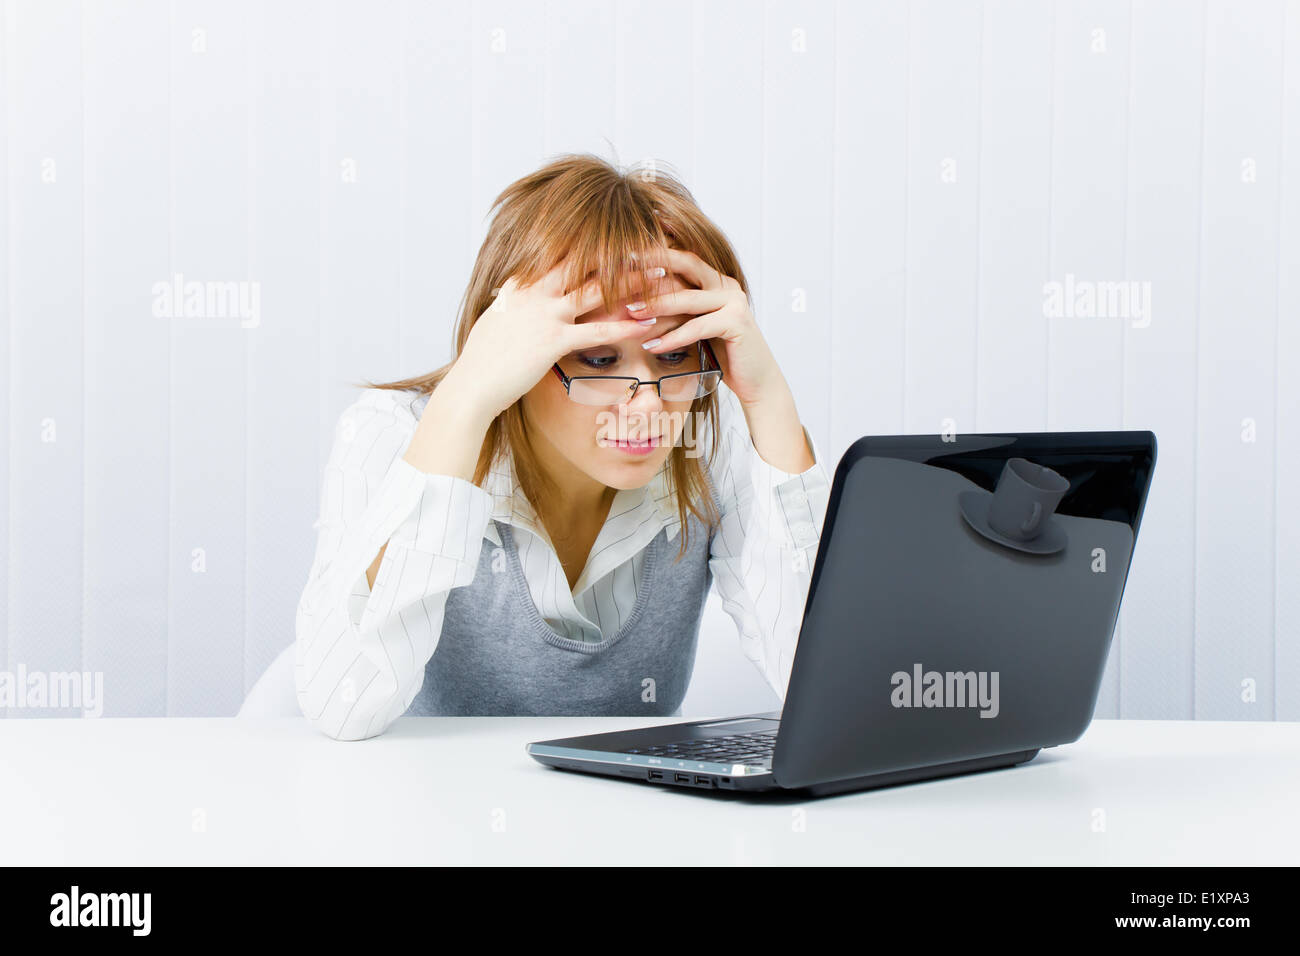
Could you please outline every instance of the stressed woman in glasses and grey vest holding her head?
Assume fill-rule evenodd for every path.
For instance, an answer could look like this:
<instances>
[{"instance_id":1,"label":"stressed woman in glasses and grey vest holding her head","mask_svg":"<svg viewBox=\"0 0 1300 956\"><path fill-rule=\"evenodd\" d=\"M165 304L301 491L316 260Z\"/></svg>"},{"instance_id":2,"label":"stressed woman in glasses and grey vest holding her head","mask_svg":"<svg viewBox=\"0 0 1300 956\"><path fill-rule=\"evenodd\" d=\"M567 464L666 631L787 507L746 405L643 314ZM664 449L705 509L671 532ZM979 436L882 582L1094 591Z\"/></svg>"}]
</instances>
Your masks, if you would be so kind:
<instances>
[{"instance_id":1,"label":"stressed woman in glasses and grey vest holding her head","mask_svg":"<svg viewBox=\"0 0 1300 956\"><path fill-rule=\"evenodd\" d=\"M677 181L594 156L498 207L456 358L339 419L303 713L346 740L402 714L680 713L715 580L784 698L829 483L733 250Z\"/></svg>"}]
</instances>

